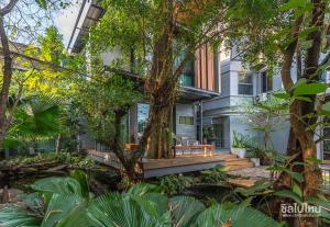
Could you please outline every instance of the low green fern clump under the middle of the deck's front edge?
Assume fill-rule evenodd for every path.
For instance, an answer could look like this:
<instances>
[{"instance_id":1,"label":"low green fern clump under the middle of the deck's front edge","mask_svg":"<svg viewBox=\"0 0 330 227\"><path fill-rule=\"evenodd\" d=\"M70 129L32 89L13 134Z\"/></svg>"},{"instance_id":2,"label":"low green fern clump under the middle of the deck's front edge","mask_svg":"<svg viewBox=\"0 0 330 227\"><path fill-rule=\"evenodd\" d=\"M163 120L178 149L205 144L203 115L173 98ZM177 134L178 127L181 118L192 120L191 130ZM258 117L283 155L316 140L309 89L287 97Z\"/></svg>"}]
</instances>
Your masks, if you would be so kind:
<instances>
[{"instance_id":1,"label":"low green fern clump under the middle of the deck's front edge","mask_svg":"<svg viewBox=\"0 0 330 227\"><path fill-rule=\"evenodd\" d=\"M167 194L179 194L185 189L193 186L193 178L183 174L165 175L160 178L160 185Z\"/></svg>"}]
</instances>

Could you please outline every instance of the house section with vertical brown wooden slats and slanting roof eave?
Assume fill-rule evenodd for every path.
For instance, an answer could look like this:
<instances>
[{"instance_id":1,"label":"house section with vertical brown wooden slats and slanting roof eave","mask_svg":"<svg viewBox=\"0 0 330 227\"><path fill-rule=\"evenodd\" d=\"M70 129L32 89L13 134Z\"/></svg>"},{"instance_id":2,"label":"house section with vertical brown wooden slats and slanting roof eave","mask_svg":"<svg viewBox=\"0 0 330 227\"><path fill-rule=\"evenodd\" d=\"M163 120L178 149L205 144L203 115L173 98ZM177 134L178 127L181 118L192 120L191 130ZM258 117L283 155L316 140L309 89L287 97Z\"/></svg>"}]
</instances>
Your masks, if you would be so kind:
<instances>
[{"instance_id":1,"label":"house section with vertical brown wooden slats and slanting roof eave","mask_svg":"<svg viewBox=\"0 0 330 227\"><path fill-rule=\"evenodd\" d=\"M88 29L105 13L105 10L94 1L84 1L75 23L68 49L74 55L84 48L84 37ZM110 64L120 57L120 50L101 54L103 65ZM196 52L196 58L189 61L180 76L180 95L173 109L173 132L178 143L202 143L202 102L220 94L219 54L205 44ZM129 68L122 72L134 78ZM124 121L124 141L139 143L148 115L148 104L139 103L131 107ZM82 139L82 140L87 140ZM88 143L88 146L95 146ZM87 146L87 145L86 145Z\"/></svg>"}]
</instances>

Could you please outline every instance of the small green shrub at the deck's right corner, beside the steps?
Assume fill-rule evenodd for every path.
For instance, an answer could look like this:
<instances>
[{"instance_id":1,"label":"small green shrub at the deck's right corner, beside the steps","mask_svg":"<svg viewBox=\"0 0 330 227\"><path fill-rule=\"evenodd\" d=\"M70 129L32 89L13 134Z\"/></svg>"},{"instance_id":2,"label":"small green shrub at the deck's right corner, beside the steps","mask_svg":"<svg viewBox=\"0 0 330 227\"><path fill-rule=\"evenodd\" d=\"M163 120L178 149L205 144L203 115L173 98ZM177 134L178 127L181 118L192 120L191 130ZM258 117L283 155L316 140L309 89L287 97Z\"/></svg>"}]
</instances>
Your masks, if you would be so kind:
<instances>
[{"instance_id":1,"label":"small green shrub at the deck's right corner, beside the steps","mask_svg":"<svg viewBox=\"0 0 330 227\"><path fill-rule=\"evenodd\" d=\"M204 170L200 172L200 182L208 184L224 183L228 180L228 174L224 166L218 166L210 170Z\"/></svg>"}]
</instances>

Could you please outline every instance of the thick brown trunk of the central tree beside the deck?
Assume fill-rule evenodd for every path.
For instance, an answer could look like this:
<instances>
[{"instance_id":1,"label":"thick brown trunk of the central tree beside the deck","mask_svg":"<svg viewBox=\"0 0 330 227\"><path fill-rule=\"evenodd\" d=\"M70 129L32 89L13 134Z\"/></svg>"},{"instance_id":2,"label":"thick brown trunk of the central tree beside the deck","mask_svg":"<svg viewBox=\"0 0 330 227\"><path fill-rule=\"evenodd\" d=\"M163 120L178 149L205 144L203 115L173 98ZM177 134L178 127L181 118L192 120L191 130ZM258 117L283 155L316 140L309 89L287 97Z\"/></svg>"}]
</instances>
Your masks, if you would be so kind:
<instances>
[{"instance_id":1,"label":"thick brown trunk of the central tree beside the deck","mask_svg":"<svg viewBox=\"0 0 330 227\"><path fill-rule=\"evenodd\" d=\"M150 80L150 115L139 150L146 151L148 158L172 157L168 134L170 133L170 112L176 100L178 77L174 75L173 43L175 33L174 1L164 1L163 33L155 43Z\"/></svg>"}]
</instances>

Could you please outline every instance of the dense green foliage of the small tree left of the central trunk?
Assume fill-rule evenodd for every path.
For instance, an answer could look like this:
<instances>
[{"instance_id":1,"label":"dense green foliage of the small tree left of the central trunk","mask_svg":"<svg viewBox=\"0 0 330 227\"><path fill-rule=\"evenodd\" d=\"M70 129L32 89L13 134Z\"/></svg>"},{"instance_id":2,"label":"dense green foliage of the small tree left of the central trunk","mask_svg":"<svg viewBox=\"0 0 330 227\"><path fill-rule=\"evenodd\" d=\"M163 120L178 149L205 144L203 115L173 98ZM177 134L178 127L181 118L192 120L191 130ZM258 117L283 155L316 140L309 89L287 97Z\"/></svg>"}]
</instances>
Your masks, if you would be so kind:
<instances>
[{"instance_id":1,"label":"dense green foliage of the small tree left of the central trunk","mask_svg":"<svg viewBox=\"0 0 330 227\"><path fill-rule=\"evenodd\" d=\"M77 81L74 98L96 140L109 146L116 133L114 112L127 112L142 95L133 81L97 71L90 80Z\"/></svg>"}]
</instances>

